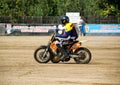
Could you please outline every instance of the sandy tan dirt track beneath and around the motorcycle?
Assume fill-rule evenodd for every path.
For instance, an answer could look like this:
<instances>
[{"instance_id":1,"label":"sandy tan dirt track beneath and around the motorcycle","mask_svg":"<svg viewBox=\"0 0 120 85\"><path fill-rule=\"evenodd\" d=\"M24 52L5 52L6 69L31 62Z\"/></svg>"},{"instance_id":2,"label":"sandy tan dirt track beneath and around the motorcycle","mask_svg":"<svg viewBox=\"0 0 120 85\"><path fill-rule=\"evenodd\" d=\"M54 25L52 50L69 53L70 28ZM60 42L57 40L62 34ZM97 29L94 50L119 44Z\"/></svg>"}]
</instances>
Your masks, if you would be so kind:
<instances>
[{"instance_id":1,"label":"sandy tan dirt track beneath and around the motorcycle","mask_svg":"<svg viewBox=\"0 0 120 85\"><path fill-rule=\"evenodd\" d=\"M39 64L34 50L49 37L0 36L0 85L120 85L120 36L82 37L90 64Z\"/></svg>"}]
</instances>

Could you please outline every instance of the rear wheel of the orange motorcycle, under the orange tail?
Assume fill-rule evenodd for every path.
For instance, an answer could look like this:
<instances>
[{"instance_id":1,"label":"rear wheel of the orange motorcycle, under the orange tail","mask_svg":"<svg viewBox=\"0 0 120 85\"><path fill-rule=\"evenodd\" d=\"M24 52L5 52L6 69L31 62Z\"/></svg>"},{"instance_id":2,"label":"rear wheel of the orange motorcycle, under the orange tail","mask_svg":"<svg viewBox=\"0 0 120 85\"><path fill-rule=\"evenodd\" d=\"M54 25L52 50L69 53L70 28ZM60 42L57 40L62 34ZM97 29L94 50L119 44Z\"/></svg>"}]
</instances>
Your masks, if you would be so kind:
<instances>
[{"instance_id":1,"label":"rear wheel of the orange motorcycle, under the orange tail","mask_svg":"<svg viewBox=\"0 0 120 85\"><path fill-rule=\"evenodd\" d=\"M78 64L88 64L91 60L91 52L84 47L81 47L76 51L78 57L74 58L75 62Z\"/></svg>"}]
</instances>

